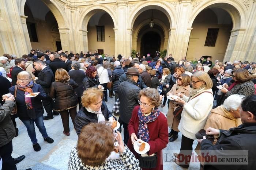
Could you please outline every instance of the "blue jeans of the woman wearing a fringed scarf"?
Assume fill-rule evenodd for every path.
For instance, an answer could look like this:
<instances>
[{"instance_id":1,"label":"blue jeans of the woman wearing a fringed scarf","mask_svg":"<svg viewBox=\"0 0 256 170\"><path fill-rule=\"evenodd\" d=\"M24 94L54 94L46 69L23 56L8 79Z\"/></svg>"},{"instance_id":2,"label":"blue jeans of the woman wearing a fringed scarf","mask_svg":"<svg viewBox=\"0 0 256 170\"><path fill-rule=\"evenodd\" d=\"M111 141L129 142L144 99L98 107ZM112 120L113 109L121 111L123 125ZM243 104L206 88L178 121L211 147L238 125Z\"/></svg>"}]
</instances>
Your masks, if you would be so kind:
<instances>
[{"instance_id":1,"label":"blue jeans of the woman wearing a fringed scarf","mask_svg":"<svg viewBox=\"0 0 256 170\"><path fill-rule=\"evenodd\" d=\"M35 124L37 125L37 128L39 130L39 132L42 134L43 138L47 138L47 132L45 129L45 125L44 125L44 117L40 116L37 117L37 119L35 120L21 120L26 128L27 128L27 134L29 135L29 138L31 139L31 142L33 144L37 143L37 136L35 134ZM35 124L34 124L35 123Z\"/></svg>"}]
</instances>

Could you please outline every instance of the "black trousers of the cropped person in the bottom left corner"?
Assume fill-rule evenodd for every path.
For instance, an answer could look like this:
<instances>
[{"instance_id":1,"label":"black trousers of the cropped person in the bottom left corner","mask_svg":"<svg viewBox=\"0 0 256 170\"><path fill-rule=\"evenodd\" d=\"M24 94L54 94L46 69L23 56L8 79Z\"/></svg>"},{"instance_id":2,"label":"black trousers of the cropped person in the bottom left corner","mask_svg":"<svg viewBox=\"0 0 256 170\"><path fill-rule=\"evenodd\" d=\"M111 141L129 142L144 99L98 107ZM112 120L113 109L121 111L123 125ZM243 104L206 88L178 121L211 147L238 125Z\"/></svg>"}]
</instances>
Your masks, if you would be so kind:
<instances>
[{"instance_id":1,"label":"black trousers of the cropped person in the bottom left corner","mask_svg":"<svg viewBox=\"0 0 256 170\"><path fill-rule=\"evenodd\" d=\"M0 157L3 160L2 170L17 170L14 158L12 158L12 140L0 147Z\"/></svg>"}]
</instances>

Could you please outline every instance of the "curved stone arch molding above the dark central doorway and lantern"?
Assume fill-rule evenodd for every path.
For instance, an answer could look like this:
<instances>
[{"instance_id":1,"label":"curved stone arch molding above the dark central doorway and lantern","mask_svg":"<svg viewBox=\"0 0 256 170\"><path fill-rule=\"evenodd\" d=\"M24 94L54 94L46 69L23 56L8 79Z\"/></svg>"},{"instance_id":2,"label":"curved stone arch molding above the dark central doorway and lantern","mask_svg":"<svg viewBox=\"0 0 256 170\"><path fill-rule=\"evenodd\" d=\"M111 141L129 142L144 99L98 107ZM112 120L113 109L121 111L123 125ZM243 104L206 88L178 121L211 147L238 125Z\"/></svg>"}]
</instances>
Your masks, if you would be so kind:
<instances>
[{"instance_id":1,"label":"curved stone arch molding above the dark central doorway and lantern","mask_svg":"<svg viewBox=\"0 0 256 170\"><path fill-rule=\"evenodd\" d=\"M132 28L136 18L142 12L148 9L159 9L160 11L165 13L165 15L167 16L170 23L170 28L175 27L175 20L174 20L176 18L176 15L174 13L175 9L170 4L167 4L166 2L163 2L163 1L148 0L146 2L137 4L135 8L132 11L130 11L131 17L128 20L128 25L127 25L128 28Z\"/></svg>"}]
</instances>

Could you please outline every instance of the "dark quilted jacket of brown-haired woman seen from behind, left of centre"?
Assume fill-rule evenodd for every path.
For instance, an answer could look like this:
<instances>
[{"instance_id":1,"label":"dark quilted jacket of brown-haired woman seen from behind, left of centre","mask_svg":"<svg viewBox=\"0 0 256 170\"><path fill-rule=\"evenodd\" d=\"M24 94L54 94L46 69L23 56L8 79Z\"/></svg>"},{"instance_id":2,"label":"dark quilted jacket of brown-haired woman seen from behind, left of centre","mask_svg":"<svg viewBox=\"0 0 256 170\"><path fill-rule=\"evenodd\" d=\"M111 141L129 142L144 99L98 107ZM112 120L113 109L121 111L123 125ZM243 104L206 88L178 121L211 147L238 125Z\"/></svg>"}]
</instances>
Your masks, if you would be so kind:
<instances>
[{"instance_id":1,"label":"dark quilted jacket of brown-haired woman seen from behind, left of centre","mask_svg":"<svg viewBox=\"0 0 256 170\"><path fill-rule=\"evenodd\" d=\"M78 84L72 79L65 82L54 81L50 88L50 97L55 98L53 110L60 112L76 107L78 99L74 89L77 87Z\"/></svg>"}]
</instances>

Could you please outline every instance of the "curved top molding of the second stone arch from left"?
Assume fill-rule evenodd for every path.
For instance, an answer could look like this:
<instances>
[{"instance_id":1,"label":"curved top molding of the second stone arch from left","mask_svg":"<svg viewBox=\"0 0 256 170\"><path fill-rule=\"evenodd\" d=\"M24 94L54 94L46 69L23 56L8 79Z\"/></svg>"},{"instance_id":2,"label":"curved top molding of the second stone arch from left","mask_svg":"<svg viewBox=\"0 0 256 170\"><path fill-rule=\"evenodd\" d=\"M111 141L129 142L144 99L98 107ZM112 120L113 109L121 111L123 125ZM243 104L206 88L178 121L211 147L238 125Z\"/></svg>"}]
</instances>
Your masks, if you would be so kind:
<instances>
[{"instance_id":1,"label":"curved top molding of the second stone arch from left","mask_svg":"<svg viewBox=\"0 0 256 170\"><path fill-rule=\"evenodd\" d=\"M106 5L93 5L93 7L88 7L86 8L80 15L80 22L79 22L79 30L84 30L87 31L87 25L89 23L90 18L97 13L99 10L103 10L105 12L107 12L110 17L113 20L114 23L114 28L117 28L117 19L114 15L114 13L112 12L112 10L106 6Z\"/></svg>"}]
</instances>

